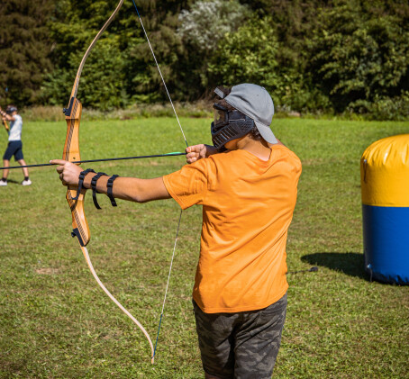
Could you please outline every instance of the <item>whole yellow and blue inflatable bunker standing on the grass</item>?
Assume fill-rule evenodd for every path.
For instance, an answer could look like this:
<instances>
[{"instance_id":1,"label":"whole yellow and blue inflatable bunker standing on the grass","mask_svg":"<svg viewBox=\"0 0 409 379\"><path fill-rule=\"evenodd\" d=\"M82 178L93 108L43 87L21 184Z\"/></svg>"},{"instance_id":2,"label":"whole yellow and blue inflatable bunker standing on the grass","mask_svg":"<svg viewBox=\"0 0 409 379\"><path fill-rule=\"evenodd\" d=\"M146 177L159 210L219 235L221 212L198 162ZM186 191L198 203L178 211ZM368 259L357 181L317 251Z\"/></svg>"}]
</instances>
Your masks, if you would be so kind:
<instances>
[{"instance_id":1,"label":"whole yellow and blue inflatable bunker standing on the grass","mask_svg":"<svg viewBox=\"0 0 409 379\"><path fill-rule=\"evenodd\" d=\"M372 143L360 159L365 270L409 284L409 134Z\"/></svg>"}]
</instances>

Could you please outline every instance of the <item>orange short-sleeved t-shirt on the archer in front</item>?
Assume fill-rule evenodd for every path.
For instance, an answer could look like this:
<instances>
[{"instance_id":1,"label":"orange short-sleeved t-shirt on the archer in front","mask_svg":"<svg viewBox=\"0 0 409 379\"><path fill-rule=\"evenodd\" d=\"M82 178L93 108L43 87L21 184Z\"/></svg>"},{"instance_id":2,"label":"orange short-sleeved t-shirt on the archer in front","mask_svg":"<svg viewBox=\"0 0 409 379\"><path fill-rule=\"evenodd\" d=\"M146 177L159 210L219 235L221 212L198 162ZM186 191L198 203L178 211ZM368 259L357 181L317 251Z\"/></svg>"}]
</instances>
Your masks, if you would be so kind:
<instances>
[{"instance_id":1,"label":"orange short-sleeved t-shirt on the archer in front","mask_svg":"<svg viewBox=\"0 0 409 379\"><path fill-rule=\"evenodd\" d=\"M300 159L274 145L268 161L239 149L163 176L182 209L203 206L193 289L202 311L254 311L284 296L286 236L300 174Z\"/></svg>"}]
</instances>

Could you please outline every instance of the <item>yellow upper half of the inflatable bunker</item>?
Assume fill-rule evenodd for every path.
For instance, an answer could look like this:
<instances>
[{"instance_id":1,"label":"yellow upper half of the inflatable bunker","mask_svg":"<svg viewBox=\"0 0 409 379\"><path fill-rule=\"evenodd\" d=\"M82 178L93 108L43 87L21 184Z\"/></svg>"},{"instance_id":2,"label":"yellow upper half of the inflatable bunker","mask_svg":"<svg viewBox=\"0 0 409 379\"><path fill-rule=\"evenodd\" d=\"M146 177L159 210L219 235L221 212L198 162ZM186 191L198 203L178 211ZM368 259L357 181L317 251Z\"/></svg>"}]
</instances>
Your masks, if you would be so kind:
<instances>
[{"instance_id":1,"label":"yellow upper half of the inflatable bunker","mask_svg":"<svg viewBox=\"0 0 409 379\"><path fill-rule=\"evenodd\" d=\"M409 207L409 134L372 143L360 158L362 203Z\"/></svg>"}]
</instances>

